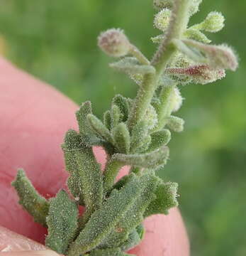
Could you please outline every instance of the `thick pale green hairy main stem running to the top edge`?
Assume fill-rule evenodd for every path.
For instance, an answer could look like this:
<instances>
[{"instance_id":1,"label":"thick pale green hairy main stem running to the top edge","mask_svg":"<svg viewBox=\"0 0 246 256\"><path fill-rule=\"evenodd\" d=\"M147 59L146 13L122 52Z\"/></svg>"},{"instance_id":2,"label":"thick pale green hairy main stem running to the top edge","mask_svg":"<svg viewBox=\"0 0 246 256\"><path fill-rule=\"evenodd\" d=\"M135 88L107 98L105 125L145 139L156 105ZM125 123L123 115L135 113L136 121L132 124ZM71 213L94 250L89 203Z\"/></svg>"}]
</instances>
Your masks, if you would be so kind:
<instances>
[{"instance_id":1,"label":"thick pale green hairy main stem running to the top edge","mask_svg":"<svg viewBox=\"0 0 246 256\"><path fill-rule=\"evenodd\" d=\"M191 0L175 0L172 17L163 42L160 44L155 53L151 64L156 68L155 74L147 74L144 76L142 85L138 90L138 95L133 105L133 110L130 112L128 119L129 129L133 129L142 118L144 118L147 108L150 105L152 97L157 88L157 83L160 76L166 68L167 63L176 52L176 47L172 44L174 38L181 38L189 22L189 6Z\"/></svg>"}]
</instances>

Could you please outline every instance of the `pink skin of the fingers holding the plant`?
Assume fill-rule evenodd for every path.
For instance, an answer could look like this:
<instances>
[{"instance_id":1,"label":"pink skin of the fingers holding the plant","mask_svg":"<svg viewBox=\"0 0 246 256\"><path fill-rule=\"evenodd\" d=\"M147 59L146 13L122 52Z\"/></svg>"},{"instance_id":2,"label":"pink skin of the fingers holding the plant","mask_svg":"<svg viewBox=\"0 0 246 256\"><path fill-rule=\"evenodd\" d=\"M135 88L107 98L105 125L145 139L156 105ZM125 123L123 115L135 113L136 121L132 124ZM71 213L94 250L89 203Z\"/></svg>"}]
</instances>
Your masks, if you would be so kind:
<instances>
[{"instance_id":1,"label":"pink skin of the fingers holding the plant","mask_svg":"<svg viewBox=\"0 0 246 256\"><path fill-rule=\"evenodd\" d=\"M30 215L18 205L10 183L16 169L21 167L45 197L65 188L67 173L60 144L67 129L77 129L74 116L77 108L50 85L0 58L0 225L5 227L0 227L0 256L55 255L45 251L42 245L45 228L33 223ZM104 151L99 148L94 151L103 168ZM124 168L121 175L126 171ZM145 239L130 253L189 256L189 240L177 208L167 216L147 218L145 228Z\"/></svg>"}]
</instances>

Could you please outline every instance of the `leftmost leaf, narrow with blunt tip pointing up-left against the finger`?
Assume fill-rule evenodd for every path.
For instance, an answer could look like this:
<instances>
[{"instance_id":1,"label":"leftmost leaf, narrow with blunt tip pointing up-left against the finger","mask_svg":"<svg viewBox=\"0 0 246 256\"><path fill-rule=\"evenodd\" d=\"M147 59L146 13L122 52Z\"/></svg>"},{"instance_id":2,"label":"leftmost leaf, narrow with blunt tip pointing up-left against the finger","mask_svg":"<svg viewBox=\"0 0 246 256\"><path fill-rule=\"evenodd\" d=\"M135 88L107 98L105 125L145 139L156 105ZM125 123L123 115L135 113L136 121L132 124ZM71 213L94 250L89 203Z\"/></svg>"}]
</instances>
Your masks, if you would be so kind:
<instances>
[{"instance_id":1,"label":"leftmost leaf, narrow with blunt tip pointing up-left against the finger","mask_svg":"<svg viewBox=\"0 0 246 256\"><path fill-rule=\"evenodd\" d=\"M22 169L18 170L12 186L16 188L21 206L33 216L35 222L46 227L46 217L50 207L49 203L33 188L33 184L26 176L25 171Z\"/></svg>"}]
</instances>

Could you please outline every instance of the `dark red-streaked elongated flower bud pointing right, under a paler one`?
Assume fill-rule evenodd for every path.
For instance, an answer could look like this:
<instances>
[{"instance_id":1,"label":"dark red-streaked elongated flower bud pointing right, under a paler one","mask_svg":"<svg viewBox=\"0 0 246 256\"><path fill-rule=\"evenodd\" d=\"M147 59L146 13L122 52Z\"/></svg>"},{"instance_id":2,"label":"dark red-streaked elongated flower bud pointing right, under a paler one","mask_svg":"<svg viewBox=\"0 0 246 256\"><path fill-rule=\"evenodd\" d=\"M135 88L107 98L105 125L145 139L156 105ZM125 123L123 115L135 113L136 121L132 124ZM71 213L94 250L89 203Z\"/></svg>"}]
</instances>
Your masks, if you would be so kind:
<instances>
[{"instance_id":1,"label":"dark red-streaked elongated flower bud pointing right, under a paler one","mask_svg":"<svg viewBox=\"0 0 246 256\"><path fill-rule=\"evenodd\" d=\"M169 68L167 69L167 73L177 76L187 76L192 79L192 82L202 85L225 77L225 70L214 69L208 65L193 65L189 68Z\"/></svg>"}]
</instances>

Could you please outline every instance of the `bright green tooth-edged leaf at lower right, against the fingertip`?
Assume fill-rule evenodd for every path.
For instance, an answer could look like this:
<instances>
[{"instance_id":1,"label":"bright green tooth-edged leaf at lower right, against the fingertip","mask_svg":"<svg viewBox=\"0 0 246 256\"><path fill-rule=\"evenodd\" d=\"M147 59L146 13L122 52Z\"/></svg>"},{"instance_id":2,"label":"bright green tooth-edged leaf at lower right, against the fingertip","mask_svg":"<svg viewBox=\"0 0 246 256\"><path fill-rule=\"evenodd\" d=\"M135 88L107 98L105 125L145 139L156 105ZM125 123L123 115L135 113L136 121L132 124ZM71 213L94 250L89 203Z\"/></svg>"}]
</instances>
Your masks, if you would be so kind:
<instances>
[{"instance_id":1,"label":"bright green tooth-edged leaf at lower right, against the fingertip","mask_svg":"<svg viewBox=\"0 0 246 256\"><path fill-rule=\"evenodd\" d=\"M145 211L145 218L153 214L168 214L168 210L179 205L177 201L177 183L164 183L161 178L155 190L155 200Z\"/></svg>"}]
</instances>

